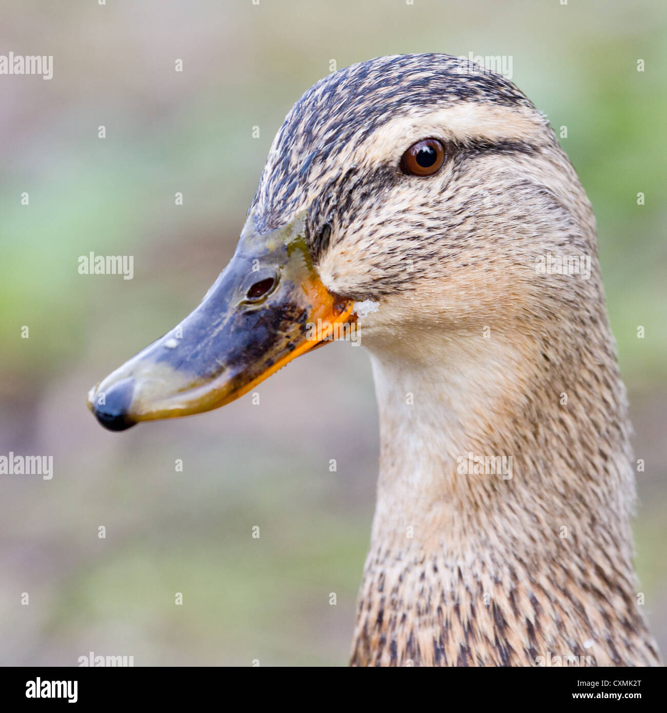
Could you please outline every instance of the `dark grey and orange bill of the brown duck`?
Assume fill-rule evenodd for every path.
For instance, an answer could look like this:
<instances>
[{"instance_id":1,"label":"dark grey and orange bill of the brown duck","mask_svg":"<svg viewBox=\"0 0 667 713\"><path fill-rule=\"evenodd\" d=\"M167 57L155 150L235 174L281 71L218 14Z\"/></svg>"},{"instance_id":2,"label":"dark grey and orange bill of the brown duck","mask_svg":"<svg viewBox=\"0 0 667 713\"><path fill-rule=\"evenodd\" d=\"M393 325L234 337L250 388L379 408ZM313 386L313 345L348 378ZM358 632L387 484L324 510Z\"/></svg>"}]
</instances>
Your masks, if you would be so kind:
<instances>
[{"instance_id":1,"label":"dark grey and orange bill of the brown duck","mask_svg":"<svg viewBox=\"0 0 667 713\"><path fill-rule=\"evenodd\" d=\"M98 421L123 431L217 409L335 339L352 302L320 282L304 235L302 220L259 235L251 215L199 307L88 393Z\"/></svg>"}]
</instances>

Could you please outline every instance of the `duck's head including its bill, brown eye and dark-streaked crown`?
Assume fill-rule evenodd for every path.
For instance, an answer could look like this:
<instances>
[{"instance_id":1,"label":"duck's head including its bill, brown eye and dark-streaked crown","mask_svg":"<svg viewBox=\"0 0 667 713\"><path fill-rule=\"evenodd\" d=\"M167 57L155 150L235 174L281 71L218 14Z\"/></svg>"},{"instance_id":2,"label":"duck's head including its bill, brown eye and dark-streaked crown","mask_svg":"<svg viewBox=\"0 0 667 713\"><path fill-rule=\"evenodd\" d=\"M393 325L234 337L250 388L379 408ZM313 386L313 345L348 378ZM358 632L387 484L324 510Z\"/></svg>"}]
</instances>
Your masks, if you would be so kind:
<instances>
[{"instance_id":1,"label":"duck's head including its bill, brown eye and dark-streaked crown","mask_svg":"<svg viewBox=\"0 0 667 713\"><path fill-rule=\"evenodd\" d=\"M577 240L591 254L592 221L546 119L503 77L436 54L350 66L287 115L235 255L200 305L88 406L116 431L215 409L337 324L415 359L434 334L548 317L535 257Z\"/></svg>"}]
</instances>

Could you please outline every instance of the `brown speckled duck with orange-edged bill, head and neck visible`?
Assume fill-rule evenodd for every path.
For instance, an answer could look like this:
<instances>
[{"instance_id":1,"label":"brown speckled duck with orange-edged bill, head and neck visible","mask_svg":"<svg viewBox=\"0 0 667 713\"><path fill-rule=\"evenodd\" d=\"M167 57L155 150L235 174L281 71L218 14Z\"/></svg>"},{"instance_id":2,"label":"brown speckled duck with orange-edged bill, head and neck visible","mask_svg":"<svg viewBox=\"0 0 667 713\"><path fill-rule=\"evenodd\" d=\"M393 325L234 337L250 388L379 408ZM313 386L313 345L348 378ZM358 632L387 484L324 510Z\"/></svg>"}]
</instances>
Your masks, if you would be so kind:
<instances>
[{"instance_id":1,"label":"brown speckled duck with orange-edged bill, head and neck visible","mask_svg":"<svg viewBox=\"0 0 667 713\"><path fill-rule=\"evenodd\" d=\"M315 83L228 266L88 406L199 414L350 333L380 421L350 665L660 665L594 213L501 74L424 53Z\"/></svg>"}]
</instances>

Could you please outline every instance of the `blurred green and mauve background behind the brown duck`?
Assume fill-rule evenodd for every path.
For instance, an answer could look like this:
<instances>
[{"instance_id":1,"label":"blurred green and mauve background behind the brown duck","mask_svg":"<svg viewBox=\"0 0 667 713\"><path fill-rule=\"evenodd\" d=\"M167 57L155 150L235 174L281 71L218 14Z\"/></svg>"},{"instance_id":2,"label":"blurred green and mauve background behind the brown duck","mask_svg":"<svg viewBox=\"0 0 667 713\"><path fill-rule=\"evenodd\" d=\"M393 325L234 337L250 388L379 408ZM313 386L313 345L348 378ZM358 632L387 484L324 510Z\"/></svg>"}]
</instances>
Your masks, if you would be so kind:
<instances>
[{"instance_id":1,"label":"blurred green and mauve background behind the brown duck","mask_svg":"<svg viewBox=\"0 0 667 713\"><path fill-rule=\"evenodd\" d=\"M568 128L646 461L637 563L667 650L665 30L660 0L4 3L0 53L53 55L54 78L0 76L0 453L53 455L54 478L0 476L0 663L347 662L377 473L364 349L298 360L260 406L126 434L96 424L86 392L203 297L275 131L330 60L422 51L511 56ZM79 275L91 250L133 255L134 278Z\"/></svg>"}]
</instances>

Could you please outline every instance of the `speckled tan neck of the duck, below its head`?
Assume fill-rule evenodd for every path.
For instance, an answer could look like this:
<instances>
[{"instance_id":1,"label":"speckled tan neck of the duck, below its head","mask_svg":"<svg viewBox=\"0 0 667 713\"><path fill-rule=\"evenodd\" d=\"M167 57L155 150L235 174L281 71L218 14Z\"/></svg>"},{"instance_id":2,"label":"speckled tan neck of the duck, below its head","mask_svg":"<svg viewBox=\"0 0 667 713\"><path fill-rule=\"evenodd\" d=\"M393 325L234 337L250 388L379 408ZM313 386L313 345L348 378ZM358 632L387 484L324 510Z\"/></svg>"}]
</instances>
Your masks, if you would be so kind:
<instances>
[{"instance_id":1,"label":"speckled tan neck of the duck, below its head","mask_svg":"<svg viewBox=\"0 0 667 713\"><path fill-rule=\"evenodd\" d=\"M656 662L603 327L560 359L525 334L371 345L380 477L353 664Z\"/></svg>"}]
</instances>

